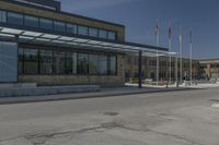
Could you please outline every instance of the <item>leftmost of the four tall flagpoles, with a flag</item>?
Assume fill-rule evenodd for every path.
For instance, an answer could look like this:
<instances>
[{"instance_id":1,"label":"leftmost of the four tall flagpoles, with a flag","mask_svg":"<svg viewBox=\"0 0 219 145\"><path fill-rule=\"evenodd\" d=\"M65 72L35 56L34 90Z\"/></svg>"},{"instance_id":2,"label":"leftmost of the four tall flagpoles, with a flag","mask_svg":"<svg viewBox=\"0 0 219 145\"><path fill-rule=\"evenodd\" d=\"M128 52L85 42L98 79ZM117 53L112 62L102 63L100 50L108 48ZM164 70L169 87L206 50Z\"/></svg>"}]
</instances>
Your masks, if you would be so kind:
<instances>
[{"instance_id":1,"label":"leftmost of the four tall flagpoles, with a flag","mask_svg":"<svg viewBox=\"0 0 219 145\"><path fill-rule=\"evenodd\" d=\"M155 25L155 46L159 47L159 20L157 20L157 25ZM160 72L160 69L159 69L159 52L158 52L158 49L157 49L157 85L159 83L159 72Z\"/></svg>"}]
</instances>

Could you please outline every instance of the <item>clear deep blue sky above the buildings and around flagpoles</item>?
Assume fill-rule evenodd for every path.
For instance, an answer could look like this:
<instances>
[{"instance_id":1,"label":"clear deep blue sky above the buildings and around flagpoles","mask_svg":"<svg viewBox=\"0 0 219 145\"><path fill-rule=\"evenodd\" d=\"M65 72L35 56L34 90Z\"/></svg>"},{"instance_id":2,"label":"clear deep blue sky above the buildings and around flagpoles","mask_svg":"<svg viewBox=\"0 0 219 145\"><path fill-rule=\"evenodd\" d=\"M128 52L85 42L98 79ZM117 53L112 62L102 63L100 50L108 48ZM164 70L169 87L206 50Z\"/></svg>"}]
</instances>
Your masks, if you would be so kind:
<instances>
[{"instance_id":1,"label":"clear deep blue sky above the buildings and around flagpoles","mask_svg":"<svg viewBox=\"0 0 219 145\"><path fill-rule=\"evenodd\" d=\"M183 56L189 56L193 29L195 59L219 59L219 0L59 0L62 11L126 26L126 41L154 45L155 20L160 20L160 46L168 46L168 25L173 50L178 51L183 27Z\"/></svg>"}]
</instances>

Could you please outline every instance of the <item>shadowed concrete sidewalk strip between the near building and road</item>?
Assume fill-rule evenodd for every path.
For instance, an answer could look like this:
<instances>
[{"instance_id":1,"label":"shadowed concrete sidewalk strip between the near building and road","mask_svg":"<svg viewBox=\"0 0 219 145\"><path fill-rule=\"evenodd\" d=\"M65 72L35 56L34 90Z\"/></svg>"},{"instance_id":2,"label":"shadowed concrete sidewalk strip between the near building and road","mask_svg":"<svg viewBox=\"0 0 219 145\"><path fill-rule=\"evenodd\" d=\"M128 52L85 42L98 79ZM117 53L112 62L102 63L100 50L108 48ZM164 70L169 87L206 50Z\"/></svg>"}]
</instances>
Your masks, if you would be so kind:
<instances>
[{"instance_id":1,"label":"shadowed concrete sidewalk strip between the near building and road","mask_svg":"<svg viewBox=\"0 0 219 145\"><path fill-rule=\"evenodd\" d=\"M0 105L4 104L25 104L25 102L38 102L38 101L55 101L55 100L68 100L68 99L83 99L83 98L97 98L97 97L113 97L120 95L135 95L135 94L149 94L149 93L162 93L162 92L175 92L175 90L191 90L189 87L170 87L170 88L155 88L155 87L111 87L101 88L100 92L94 93L78 93L78 94L60 94L60 95L46 95L46 96L28 96L28 97L1 97ZM195 88L198 89L198 88Z\"/></svg>"}]
</instances>

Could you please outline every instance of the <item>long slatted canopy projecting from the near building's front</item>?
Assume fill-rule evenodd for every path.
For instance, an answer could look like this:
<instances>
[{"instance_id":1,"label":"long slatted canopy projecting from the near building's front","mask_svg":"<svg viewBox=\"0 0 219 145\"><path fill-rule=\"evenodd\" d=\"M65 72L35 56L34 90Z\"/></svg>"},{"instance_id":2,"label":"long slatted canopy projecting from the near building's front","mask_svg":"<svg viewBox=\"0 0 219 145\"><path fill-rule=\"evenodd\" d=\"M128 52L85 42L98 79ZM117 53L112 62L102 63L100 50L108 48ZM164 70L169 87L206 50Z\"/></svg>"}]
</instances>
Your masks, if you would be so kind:
<instances>
[{"instance_id":1,"label":"long slatted canopy projecting from the near building's front","mask_svg":"<svg viewBox=\"0 0 219 145\"><path fill-rule=\"evenodd\" d=\"M54 35L48 33L31 32L19 28L0 27L0 38L18 38L19 43L48 45L70 48L87 48L103 51L116 51L123 53L137 53L139 50L143 55L154 56L154 53L166 53L165 48L155 48L131 43L108 43L103 40L93 40L88 38L69 37L64 35Z\"/></svg>"}]
</instances>

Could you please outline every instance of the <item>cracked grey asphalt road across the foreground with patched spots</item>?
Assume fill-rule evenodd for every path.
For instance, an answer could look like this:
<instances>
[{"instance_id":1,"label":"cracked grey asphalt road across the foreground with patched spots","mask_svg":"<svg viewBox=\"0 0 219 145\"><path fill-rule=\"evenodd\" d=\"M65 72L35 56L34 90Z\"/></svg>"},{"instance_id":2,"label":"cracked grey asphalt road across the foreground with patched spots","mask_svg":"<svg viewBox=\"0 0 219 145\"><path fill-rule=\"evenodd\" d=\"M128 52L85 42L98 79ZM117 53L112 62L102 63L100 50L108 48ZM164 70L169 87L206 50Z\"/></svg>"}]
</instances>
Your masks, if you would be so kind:
<instances>
[{"instance_id":1,"label":"cracked grey asphalt road across the foreground with patched spots","mask_svg":"<svg viewBox=\"0 0 219 145\"><path fill-rule=\"evenodd\" d=\"M219 88L0 105L0 145L219 145Z\"/></svg>"}]
</instances>

